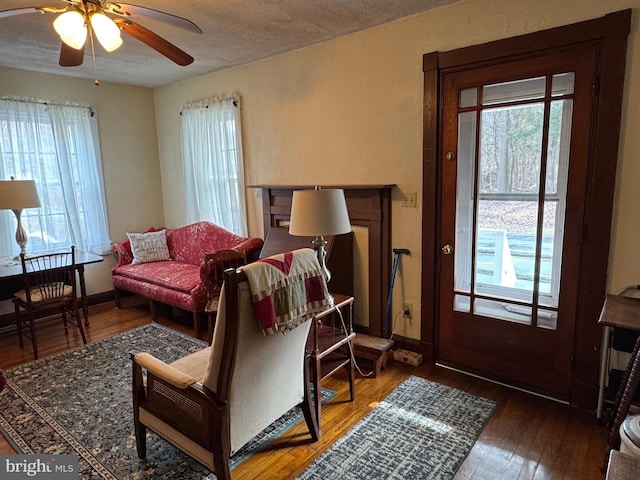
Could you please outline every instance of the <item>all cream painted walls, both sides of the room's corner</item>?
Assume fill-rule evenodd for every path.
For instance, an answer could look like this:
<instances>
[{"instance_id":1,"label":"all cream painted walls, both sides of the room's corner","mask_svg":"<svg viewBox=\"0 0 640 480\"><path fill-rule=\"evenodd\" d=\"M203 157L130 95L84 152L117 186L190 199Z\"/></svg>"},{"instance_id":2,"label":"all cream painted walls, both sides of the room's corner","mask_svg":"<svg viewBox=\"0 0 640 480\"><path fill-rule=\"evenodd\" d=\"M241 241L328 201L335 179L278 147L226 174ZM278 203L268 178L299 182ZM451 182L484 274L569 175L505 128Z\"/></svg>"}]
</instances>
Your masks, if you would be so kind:
<instances>
[{"instance_id":1,"label":"all cream painted walls, both sides of the room's corner","mask_svg":"<svg viewBox=\"0 0 640 480\"><path fill-rule=\"evenodd\" d=\"M152 91L0 67L0 95L70 100L99 116L113 240L150 225L184 224L180 117L183 103L237 91L247 184L394 183L392 245L403 257L396 332L420 337L422 55L640 7L640 0L466 0L364 32ZM215 54L213 52L212 54ZM197 59L196 59L197 61ZM640 283L640 37L634 12L625 82L609 291ZM154 117L155 114L155 117ZM157 133L156 133L157 126ZM418 193L417 208L401 207ZM248 190L251 235L262 235L259 191ZM135 206L135 207L134 207ZM107 257L88 269L90 293L111 289ZM365 266L366 268L366 266ZM368 323L364 319L363 323Z\"/></svg>"}]
</instances>

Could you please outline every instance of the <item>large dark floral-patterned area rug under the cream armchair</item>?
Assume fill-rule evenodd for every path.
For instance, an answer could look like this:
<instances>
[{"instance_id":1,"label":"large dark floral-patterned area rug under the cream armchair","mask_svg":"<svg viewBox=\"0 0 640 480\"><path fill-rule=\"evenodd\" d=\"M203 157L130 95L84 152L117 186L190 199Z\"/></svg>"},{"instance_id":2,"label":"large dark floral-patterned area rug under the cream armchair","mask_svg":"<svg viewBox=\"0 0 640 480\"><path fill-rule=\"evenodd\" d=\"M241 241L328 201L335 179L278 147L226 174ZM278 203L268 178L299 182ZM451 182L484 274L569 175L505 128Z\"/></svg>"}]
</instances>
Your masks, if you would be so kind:
<instances>
[{"instance_id":1,"label":"large dark floral-patterned area rug under the cream armchair","mask_svg":"<svg viewBox=\"0 0 640 480\"><path fill-rule=\"evenodd\" d=\"M118 334L6 372L0 432L18 453L77 454L80 479L215 479L153 433L138 459L131 400L132 350L172 362L206 344L158 324ZM323 389L326 402L335 392ZM233 469L303 420L292 409L231 458Z\"/></svg>"}]
</instances>

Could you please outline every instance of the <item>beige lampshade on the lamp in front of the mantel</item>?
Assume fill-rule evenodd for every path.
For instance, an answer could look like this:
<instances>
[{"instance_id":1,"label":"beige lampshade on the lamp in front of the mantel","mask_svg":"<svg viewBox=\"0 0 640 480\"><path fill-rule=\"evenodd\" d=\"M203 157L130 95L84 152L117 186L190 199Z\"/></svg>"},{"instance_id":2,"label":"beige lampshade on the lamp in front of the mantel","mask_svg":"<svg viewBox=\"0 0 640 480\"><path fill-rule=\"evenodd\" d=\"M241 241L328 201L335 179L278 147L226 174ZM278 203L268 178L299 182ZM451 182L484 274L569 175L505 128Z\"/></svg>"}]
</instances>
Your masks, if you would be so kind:
<instances>
[{"instance_id":1,"label":"beige lampshade on the lamp in front of the mantel","mask_svg":"<svg viewBox=\"0 0 640 480\"><path fill-rule=\"evenodd\" d=\"M351 231L341 189L295 190L289 233L297 236L340 235Z\"/></svg>"}]
</instances>

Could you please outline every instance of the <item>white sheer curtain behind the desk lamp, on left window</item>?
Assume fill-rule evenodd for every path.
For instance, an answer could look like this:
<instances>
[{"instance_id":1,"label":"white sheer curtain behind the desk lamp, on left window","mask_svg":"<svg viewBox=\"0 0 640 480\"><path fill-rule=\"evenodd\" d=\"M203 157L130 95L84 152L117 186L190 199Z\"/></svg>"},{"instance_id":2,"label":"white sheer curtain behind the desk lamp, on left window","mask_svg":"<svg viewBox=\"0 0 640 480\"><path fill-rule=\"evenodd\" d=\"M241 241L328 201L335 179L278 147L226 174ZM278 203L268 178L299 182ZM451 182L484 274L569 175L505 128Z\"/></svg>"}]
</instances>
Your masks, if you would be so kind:
<instances>
[{"instance_id":1,"label":"white sheer curtain behind the desk lamp, on left window","mask_svg":"<svg viewBox=\"0 0 640 480\"><path fill-rule=\"evenodd\" d=\"M41 208L22 212L30 253L75 245L103 255L111 242L97 116L86 105L0 99L0 178L36 181ZM0 211L0 255L18 253L15 215Z\"/></svg>"}]
</instances>

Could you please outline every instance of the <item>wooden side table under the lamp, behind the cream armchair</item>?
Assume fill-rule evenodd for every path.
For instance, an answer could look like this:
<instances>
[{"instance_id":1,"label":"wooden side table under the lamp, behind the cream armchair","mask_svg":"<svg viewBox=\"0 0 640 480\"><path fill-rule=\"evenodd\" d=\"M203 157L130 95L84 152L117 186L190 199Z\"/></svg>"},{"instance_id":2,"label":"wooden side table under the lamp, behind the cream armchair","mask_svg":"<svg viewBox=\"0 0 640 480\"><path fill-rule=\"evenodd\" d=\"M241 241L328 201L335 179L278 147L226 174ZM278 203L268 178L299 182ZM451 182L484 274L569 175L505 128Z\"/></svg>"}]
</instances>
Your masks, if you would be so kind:
<instances>
[{"instance_id":1,"label":"wooden side table under the lamp, behind the cream armchair","mask_svg":"<svg viewBox=\"0 0 640 480\"><path fill-rule=\"evenodd\" d=\"M322 396L320 383L341 368L349 373L350 401L355 399L353 348L353 297L333 294L334 303L313 318L307 339L307 357L311 363L311 382L314 388L314 409L320 430ZM342 318L341 318L342 317Z\"/></svg>"}]
</instances>

